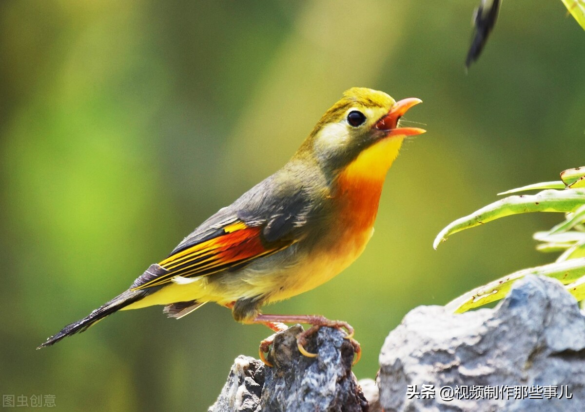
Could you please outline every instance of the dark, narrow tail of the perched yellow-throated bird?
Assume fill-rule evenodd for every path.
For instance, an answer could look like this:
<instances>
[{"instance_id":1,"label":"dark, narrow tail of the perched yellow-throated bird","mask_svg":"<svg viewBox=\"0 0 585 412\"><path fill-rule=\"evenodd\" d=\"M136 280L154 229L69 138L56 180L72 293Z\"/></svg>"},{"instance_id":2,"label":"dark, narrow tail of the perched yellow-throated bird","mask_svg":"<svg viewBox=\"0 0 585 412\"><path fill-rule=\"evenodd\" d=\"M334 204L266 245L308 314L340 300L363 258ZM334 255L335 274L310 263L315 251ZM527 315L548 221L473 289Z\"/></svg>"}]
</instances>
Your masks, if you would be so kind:
<instances>
[{"instance_id":1,"label":"dark, narrow tail of the perched yellow-throated bird","mask_svg":"<svg viewBox=\"0 0 585 412\"><path fill-rule=\"evenodd\" d=\"M130 305L130 303L134 303L139 301L140 299L144 298L148 292L142 291L131 291L128 290L123 292L122 294L116 296L111 301L104 303L104 305L100 306L98 309L95 309L91 312L88 316L85 316L83 319L78 320L77 322L73 322L68 324L66 327L61 329L61 331L47 339L45 343L37 347L37 349L44 348L46 346L50 346L54 343L59 342L66 336L71 336L75 333L85 331L88 327L92 324L98 322L99 320L104 319L104 317L111 315L112 313L124 308L125 306Z\"/></svg>"}]
</instances>

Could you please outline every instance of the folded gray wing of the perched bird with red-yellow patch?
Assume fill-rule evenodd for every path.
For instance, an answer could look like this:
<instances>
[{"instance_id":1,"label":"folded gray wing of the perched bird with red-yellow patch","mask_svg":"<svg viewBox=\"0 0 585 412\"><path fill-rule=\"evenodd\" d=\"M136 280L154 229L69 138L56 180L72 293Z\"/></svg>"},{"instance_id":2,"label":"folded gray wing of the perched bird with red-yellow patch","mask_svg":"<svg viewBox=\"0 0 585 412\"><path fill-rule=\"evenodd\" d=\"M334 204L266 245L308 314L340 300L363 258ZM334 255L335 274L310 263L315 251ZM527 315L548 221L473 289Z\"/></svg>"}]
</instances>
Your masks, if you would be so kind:
<instances>
[{"instance_id":1,"label":"folded gray wing of the perched bird with red-yellow patch","mask_svg":"<svg viewBox=\"0 0 585 412\"><path fill-rule=\"evenodd\" d=\"M187 236L167 259L150 266L130 289L158 287L176 277L207 276L240 268L300 240L308 212L306 194L297 190L292 195L289 192L274 196L271 187L269 178L219 210Z\"/></svg>"}]
</instances>

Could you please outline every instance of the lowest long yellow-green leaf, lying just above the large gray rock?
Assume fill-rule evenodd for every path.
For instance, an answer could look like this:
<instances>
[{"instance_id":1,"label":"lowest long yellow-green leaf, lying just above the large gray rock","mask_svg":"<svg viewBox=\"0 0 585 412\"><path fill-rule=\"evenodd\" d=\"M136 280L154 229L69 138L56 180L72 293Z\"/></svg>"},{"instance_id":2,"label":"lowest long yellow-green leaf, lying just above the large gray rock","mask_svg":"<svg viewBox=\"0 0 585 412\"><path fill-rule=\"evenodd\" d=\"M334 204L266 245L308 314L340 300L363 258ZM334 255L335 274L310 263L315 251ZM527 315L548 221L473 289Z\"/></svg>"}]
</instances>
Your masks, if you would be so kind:
<instances>
[{"instance_id":1,"label":"lowest long yellow-green leaf, lying just above the large gray rock","mask_svg":"<svg viewBox=\"0 0 585 412\"><path fill-rule=\"evenodd\" d=\"M463 313L469 309L485 305L486 303L498 301L507 295L515 281L526 275L544 275L558 279L564 285L570 284L585 275L585 258L571 259L560 263L549 263L544 266L519 270L490 282L487 285L473 289L459 296L459 298L453 299L453 301L445 305L445 309L450 312ZM583 283L583 287L580 285L576 291L585 295L585 283Z\"/></svg>"}]
</instances>

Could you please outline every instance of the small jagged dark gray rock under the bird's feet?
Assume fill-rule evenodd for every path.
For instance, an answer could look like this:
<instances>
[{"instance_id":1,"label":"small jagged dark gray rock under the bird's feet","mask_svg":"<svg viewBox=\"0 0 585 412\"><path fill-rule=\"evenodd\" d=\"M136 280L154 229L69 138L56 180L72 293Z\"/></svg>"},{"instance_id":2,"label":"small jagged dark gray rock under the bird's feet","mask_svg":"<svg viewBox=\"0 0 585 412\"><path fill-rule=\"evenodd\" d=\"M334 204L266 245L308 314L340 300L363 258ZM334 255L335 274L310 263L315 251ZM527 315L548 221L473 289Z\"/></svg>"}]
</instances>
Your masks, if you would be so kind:
<instances>
[{"instance_id":1,"label":"small jagged dark gray rock under the bird's feet","mask_svg":"<svg viewBox=\"0 0 585 412\"><path fill-rule=\"evenodd\" d=\"M322 327L309 338L307 358L297 348L301 326L278 333L268 359L240 356L210 412L367 411L367 401L351 371L353 347L342 331Z\"/></svg>"}]
</instances>

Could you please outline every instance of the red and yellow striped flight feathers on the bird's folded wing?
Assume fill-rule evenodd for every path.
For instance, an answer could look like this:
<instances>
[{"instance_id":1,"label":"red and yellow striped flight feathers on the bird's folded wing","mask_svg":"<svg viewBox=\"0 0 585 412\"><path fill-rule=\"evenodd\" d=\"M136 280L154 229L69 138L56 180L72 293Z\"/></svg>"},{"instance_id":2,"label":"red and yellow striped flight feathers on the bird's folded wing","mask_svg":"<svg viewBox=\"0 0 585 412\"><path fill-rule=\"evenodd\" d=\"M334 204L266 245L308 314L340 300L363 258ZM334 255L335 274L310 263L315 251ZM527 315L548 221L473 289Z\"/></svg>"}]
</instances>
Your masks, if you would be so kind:
<instances>
[{"instance_id":1,"label":"red and yellow striped flight feathers on the bird's folded wing","mask_svg":"<svg viewBox=\"0 0 585 412\"><path fill-rule=\"evenodd\" d=\"M188 247L161 261L159 266L165 270L164 274L132 290L166 284L176 276L211 275L290 246L290 243L281 243L267 248L260 239L261 230L261 227L248 227L243 222L228 225L223 228L222 235Z\"/></svg>"}]
</instances>

